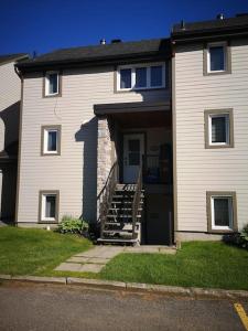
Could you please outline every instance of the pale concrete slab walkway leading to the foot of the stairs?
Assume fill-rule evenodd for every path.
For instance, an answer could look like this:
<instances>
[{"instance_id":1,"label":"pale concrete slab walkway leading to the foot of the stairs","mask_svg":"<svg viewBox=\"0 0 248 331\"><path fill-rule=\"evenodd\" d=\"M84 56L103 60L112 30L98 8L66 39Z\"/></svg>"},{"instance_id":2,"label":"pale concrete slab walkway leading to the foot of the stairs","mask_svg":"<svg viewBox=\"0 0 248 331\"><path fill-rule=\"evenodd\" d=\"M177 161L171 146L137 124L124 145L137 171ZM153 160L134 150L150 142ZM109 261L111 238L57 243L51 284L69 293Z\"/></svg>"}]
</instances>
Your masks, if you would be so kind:
<instances>
[{"instance_id":1,"label":"pale concrete slab walkway leading to the foot of the stairs","mask_svg":"<svg viewBox=\"0 0 248 331\"><path fill-rule=\"evenodd\" d=\"M57 271L99 273L106 264L120 253L175 254L175 248L166 246L95 246L76 254L61 264Z\"/></svg>"}]
</instances>

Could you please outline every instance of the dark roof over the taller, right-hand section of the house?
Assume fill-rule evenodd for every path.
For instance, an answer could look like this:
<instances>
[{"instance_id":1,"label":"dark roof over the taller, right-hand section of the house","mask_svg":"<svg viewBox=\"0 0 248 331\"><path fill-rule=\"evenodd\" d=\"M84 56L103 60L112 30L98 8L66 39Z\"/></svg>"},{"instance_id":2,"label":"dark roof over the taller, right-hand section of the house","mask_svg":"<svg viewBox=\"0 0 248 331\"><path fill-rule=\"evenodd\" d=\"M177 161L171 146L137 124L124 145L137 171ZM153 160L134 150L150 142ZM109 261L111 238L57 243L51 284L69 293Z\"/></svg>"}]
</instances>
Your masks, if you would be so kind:
<instances>
[{"instance_id":1,"label":"dark roof over the taller, right-hand section of the house","mask_svg":"<svg viewBox=\"0 0 248 331\"><path fill-rule=\"evenodd\" d=\"M183 29L182 29L183 28ZM246 15L238 15L236 18L229 19L215 19L212 21L202 21L202 22L192 22L192 23L182 23L173 25L172 29L172 38L176 39L180 36L186 35L203 35L209 33L226 33L233 32L236 33L237 31L244 31L248 29L248 14Z\"/></svg>"}]
</instances>

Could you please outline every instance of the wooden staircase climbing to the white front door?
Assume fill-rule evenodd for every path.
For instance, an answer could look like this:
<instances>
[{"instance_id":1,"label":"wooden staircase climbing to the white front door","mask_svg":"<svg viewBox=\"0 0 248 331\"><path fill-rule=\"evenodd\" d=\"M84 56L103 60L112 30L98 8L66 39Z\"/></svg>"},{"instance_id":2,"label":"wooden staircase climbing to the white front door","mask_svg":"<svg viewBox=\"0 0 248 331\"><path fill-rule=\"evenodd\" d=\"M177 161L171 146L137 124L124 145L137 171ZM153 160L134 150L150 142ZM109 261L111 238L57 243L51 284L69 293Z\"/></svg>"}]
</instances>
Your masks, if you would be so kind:
<instances>
[{"instance_id":1,"label":"wooden staircase climbing to the white front door","mask_svg":"<svg viewBox=\"0 0 248 331\"><path fill-rule=\"evenodd\" d=\"M119 184L109 180L111 190L106 189L100 204L100 238L98 243L136 244L141 241L141 216L144 191L142 173L137 184ZM107 196L106 196L107 195Z\"/></svg>"}]
</instances>

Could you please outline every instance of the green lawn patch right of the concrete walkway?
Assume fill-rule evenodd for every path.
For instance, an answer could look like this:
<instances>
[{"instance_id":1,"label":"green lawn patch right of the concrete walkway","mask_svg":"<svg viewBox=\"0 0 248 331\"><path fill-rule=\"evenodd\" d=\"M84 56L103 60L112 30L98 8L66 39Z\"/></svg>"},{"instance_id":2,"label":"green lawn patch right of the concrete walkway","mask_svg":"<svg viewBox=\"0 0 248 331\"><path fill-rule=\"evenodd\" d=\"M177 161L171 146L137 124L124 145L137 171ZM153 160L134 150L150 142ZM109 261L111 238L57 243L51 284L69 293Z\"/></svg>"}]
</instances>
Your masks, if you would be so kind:
<instances>
[{"instance_id":1,"label":"green lawn patch right of the concrete walkway","mask_svg":"<svg viewBox=\"0 0 248 331\"><path fill-rule=\"evenodd\" d=\"M248 252L224 243L191 242L176 255L121 254L104 279L248 290Z\"/></svg>"}]
</instances>

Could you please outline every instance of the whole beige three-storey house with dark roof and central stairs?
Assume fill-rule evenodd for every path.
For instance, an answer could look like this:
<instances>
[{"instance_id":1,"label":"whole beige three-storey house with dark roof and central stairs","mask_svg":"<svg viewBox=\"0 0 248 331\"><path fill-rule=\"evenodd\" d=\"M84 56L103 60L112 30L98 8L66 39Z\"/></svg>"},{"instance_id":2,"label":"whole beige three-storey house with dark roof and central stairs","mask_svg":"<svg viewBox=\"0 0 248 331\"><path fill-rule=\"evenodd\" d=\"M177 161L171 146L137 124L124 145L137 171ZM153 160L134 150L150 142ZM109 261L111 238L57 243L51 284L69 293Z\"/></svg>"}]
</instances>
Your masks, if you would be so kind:
<instances>
[{"instance_id":1,"label":"whole beige three-storey house with dark roof and central stairs","mask_svg":"<svg viewBox=\"0 0 248 331\"><path fill-rule=\"evenodd\" d=\"M54 51L22 77L15 222L99 242L219 239L247 222L248 17Z\"/></svg>"}]
</instances>

